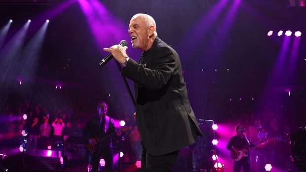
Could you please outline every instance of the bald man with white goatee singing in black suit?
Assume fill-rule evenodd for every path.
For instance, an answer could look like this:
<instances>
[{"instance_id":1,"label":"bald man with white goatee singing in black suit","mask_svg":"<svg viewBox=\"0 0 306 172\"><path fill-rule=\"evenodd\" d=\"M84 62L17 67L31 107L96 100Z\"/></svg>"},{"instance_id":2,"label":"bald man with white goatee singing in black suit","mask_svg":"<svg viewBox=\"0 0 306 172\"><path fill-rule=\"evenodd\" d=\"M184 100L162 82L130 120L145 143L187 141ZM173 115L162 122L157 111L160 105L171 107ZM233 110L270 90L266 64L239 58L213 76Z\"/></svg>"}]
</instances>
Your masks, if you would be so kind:
<instances>
[{"instance_id":1,"label":"bald man with white goatee singing in black suit","mask_svg":"<svg viewBox=\"0 0 306 172\"><path fill-rule=\"evenodd\" d=\"M133 48L143 51L137 63L127 47L104 50L123 65L121 74L135 82L136 120L142 138L143 172L170 172L179 150L203 136L191 109L177 52L157 37L154 19L132 17L129 35Z\"/></svg>"}]
</instances>

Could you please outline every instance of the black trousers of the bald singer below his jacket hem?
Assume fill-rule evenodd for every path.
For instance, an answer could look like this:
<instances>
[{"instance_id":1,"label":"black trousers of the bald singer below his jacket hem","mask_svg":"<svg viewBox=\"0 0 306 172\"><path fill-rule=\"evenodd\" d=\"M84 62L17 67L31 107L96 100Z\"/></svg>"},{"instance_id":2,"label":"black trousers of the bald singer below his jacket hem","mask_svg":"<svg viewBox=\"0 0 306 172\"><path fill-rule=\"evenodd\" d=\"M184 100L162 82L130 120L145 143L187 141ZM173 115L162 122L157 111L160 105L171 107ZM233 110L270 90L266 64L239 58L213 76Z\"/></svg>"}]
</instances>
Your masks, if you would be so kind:
<instances>
[{"instance_id":1,"label":"black trousers of the bald singer below his jacket hem","mask_svg":"<svg viewBox=\"0 0 306 172\"><path fill-rule=\"evenodd\" d=\"M174 166L176 158L180 150L167 153L164 155L150 155L145 147L141 155L141 171L142 172L170 172Z\"/></svg>"}]
</instances>

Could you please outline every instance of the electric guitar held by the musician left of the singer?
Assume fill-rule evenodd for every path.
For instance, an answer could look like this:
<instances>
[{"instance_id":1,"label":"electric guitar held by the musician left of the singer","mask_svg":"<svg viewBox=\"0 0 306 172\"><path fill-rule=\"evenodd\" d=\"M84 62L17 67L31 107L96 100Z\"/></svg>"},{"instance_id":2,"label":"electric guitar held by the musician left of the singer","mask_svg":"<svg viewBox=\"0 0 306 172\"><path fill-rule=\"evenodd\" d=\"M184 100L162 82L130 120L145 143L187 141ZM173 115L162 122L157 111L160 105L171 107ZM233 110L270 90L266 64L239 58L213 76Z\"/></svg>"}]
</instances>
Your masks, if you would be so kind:
<instances>
[{"instance_id":1,"label":"electric guitar held by the musician left of the singer","mask_svg":"<svg viewBox=\"0 0 306 172\"><path fill-rule=\"evenodd\" d=\"M130 129L132 129L132 127L121 127L121 128L119 128L118 131L126 132L126 131L128 131L128 130L130 130ZM116 135L118 131L116 131L116 132L114 132L114 133L107 134L107 135L105 135L104 137L95 137L95 138L91 138L91 139L95 140L97 144L91 145L89 142L85 143L85 148L86 148L86 150L87 150L90 154L93 154L93 153L96 151L96 149L97 149L98 146L103 146L103 143L104 143L106 140L108 140L108 139L110 139L111 137L113 137L114 135Z\"/></svg>"}]
</instances>

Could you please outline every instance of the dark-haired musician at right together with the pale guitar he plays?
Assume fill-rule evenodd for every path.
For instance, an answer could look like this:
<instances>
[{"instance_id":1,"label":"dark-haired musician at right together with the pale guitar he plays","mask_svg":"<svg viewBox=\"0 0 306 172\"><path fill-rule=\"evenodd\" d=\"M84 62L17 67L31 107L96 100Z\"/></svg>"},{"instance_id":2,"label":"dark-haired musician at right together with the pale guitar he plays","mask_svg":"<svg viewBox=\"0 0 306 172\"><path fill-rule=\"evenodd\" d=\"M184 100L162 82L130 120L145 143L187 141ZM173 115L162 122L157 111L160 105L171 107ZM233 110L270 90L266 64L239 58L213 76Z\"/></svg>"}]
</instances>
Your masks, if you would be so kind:
<instances>
[{"instance_id":1,"label":"dark-haired musician at right together with the pale guitar he plays","mask_svg":"<svg viewBox=\"0 0 306 172\"><path fill-rule=\"evenodd\" d=\"M264 143L255 145L251 143L244 134L244 125L238 124L235 128L237 135L230 138L227 149L231 151L231 157L234 160L233 172L240 172L241 167L244 172L250 172L249 150L262 148Z\"/></svg>"}]
</instances>

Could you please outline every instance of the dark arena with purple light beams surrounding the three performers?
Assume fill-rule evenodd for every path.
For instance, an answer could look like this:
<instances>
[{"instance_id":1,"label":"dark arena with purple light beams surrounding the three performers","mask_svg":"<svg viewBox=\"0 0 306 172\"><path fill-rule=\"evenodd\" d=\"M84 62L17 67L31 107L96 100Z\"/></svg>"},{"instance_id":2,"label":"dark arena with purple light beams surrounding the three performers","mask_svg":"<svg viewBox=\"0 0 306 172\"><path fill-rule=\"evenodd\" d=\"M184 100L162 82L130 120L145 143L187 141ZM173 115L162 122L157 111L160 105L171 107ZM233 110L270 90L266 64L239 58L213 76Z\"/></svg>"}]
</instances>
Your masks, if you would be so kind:
<instances>
[{"instance_id":1,"label":"dark arena with purple light beams surrounding the three performers","mask_svg":"<svg viewBox=\"0 0 306 172\"><path fill-rule=\"evenodd\" d=\"M140 59L128 32L137 13L178 53L205 136L173 172L233 172L237 124L265 143L246 156L251 172L306 171L306 0L0 0L0 172L87 171L81 131L102 100L116 128L132 127L113 143L115 171L140 172L134 105L115 60L99 66L121 40Z\"/></svg>"}]
</instances>

